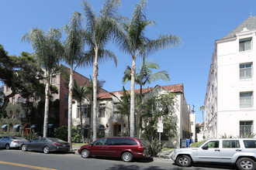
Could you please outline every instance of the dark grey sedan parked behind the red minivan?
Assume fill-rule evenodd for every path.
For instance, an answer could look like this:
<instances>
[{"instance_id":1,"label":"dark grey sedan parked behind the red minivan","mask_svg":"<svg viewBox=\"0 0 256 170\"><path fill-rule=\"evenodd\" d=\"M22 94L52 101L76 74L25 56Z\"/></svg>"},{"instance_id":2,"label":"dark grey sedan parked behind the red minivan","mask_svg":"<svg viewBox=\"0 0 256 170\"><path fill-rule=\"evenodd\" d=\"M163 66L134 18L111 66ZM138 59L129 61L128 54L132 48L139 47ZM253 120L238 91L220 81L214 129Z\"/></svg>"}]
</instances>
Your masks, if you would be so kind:
<instances>
[{"instance_id":1,"label":"dark grey sedan parked behind the red minivan","mask_svg":"<svg viewBox=\"0 0 256 170\"><path fill-rule=\"evenodd\" d=\"M50 151L69 151L70 145L59 138L36 138L25 142L21 148L22 151L43 151L48 154Z\"/></svg>"}]
</instances>

